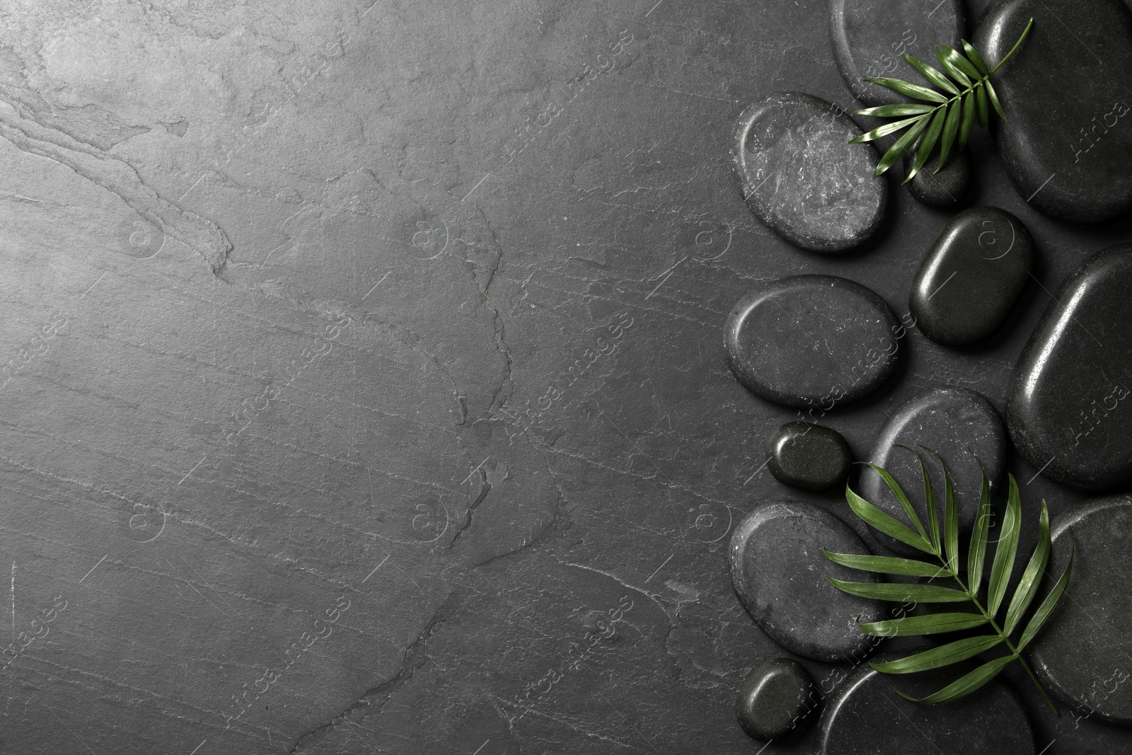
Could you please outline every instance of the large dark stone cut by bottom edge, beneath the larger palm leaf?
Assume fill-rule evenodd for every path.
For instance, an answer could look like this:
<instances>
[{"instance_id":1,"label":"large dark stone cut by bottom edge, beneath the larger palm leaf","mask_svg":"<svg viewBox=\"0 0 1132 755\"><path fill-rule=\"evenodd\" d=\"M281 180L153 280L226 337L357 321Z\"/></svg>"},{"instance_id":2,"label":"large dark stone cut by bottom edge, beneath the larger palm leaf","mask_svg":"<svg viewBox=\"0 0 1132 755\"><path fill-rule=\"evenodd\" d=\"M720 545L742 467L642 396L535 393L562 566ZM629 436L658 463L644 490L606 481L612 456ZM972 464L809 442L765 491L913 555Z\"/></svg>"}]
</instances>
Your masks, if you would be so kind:
<instances>
[{"instance_id":1,"label":"large dark stone cut by bottom edge, beneath the larger palm leaf","mask_svg":"<svg viewBox=\"0 0 1132 755\"><path fill-rule=\"evenodd\" d=\"M909 653L885 654L895 660ZM818 755L1034 755L1034 730L1018 693L1002 677L957 701L926 705L907 701L890 684L914 697L924 697L974 666L950 674L927 671L884 675L867 663L841 681L826 698L817 724Z\"/></svg>"}]
</instances>

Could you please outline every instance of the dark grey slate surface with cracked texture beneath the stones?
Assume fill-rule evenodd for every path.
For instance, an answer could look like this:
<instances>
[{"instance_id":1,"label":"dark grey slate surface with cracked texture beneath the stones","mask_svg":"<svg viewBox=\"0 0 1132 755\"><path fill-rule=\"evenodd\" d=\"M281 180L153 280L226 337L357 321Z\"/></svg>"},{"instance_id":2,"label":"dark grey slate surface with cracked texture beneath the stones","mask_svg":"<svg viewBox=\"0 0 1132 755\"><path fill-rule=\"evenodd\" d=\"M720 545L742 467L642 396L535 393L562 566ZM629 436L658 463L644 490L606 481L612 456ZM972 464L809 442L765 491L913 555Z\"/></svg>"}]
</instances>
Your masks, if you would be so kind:
<instances>
[{"instance_id":1,"label":"dark grey slate surface with cracked texture beneath the stones","mask_svg":"<svg viewBox=\"0 0 1132 755\"><path fill-rule=\"evenodd\" d=\"M758 752L734 694L779 651L727 534L814 497L760 469L792 413L732 379L723 318L801 272L900 315L950 215L894 191L878 243L824 258L744 207L747 103L852 106L824 2L0 19L0 753ZM1130 237L1036 215L974 149L1040 283L978 350L911 332L899 384L829 418L858 454L932 386L1002 409L1049 292ZM1039 749L1132 752L1021 689Z\"/></svg>"}]
</instances>

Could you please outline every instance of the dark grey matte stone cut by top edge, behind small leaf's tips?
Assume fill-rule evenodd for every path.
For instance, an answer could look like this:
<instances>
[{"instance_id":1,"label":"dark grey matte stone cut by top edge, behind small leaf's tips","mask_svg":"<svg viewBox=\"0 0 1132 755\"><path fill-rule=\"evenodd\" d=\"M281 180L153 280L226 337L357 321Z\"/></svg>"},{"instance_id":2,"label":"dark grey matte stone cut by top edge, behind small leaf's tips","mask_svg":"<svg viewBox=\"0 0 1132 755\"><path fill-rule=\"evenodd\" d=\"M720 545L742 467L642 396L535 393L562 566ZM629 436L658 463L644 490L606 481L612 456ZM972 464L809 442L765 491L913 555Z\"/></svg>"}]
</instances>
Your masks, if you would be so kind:
<instances>
[{"instance_id":1,"label":"dark grey matte stone cut by top edge, behind small leaf's tips","mask_svg":"<svg viewBox=\"0 0 1132 755\"><path fill-rule=\"evenodd\" d=\"M838 70L854 96L869 105L907 102L866 78L892 77L919 83L901 59L907 53L935 65L941 44L958 48L964 28L959 0L832 0L830 40ZM910 75L909 75L910 72Z\"/></svg>"}]
</instances>

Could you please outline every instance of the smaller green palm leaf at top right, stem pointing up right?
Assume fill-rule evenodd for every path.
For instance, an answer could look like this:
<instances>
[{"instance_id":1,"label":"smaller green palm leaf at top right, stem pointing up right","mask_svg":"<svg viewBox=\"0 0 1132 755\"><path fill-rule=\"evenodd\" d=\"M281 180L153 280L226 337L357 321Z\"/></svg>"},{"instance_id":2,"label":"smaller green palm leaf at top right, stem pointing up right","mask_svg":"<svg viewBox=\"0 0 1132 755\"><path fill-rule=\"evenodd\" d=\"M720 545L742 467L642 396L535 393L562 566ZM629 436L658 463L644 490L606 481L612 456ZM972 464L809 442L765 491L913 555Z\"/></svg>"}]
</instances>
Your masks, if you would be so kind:
<instances>
[{"instance_id":1,"label":"smaller green palm leaf at top right, stem pointing up right","mask_svg":"<svg viewBox=\"0 0 1132 755\"><path fill-rule=\"evenodd\" d=\"M963 51L942 45L936 49L935 58L940 68L935 68L911 55L901 55L909 66L919 71L931 86L912 84L898 78L869 78L881 86L887 87L916 103L881 105L856 111L857 115L875 115L881 118L901 118L900 121L885 123L869 130L867 134L850 139L851 144L872 141L887 134L904 131L895 144L884 153L873 173L874 178L887 171L901 157L916 148L916 160L904 178L904 183L924 168L933 153L940 155L935 172L943 170L947 158L967 146L968 137L975 120L978 119L983 130L989 128L989 109L1006 120L1006 113L998 95L990 84L990 76L1005 63L1021 46L1034 26L1031 18L1026 29L1010 52L994 68L988 68L979 52L967 40L962 41ZM934 88L933 88L934 87ZM919 139L918 146L916 140Z\"/></svg>"}]
</instances>

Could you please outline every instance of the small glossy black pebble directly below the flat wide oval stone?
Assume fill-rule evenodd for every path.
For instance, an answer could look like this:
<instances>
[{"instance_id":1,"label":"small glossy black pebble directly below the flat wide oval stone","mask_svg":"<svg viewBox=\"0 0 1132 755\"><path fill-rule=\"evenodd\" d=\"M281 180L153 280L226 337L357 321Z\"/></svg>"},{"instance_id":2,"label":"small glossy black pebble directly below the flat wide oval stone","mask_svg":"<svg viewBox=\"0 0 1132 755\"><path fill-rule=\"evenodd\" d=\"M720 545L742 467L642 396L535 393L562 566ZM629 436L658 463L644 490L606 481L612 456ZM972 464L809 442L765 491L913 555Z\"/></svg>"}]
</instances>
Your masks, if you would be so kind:
<instances>
[{"instance_id":1,"label":"small glossy black pebble directly below the flat wide oval stone","mask_svg":"<svg viewBox=\"0 0 1132 755\"><path fill-rule=\"evenodd\" d=\"M766 440L766 469L774 479L805 490L843 482L852 458L837 430L812 422L787 422Z\"/></svg>"}]
</instances>

